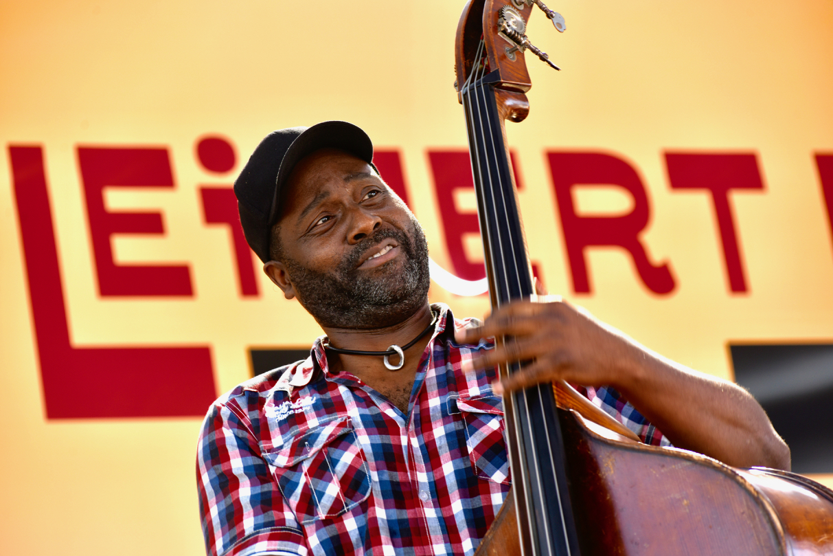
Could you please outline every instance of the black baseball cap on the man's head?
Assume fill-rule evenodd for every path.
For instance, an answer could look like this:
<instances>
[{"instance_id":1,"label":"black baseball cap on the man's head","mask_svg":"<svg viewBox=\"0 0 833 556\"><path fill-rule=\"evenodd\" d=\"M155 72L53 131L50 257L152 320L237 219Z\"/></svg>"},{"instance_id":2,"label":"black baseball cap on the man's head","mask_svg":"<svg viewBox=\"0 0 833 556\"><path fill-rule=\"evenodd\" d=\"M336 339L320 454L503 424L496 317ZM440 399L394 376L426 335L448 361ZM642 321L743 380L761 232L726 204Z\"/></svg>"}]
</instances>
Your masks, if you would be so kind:
<instances>
[{"instance_id":1,"label":"black baseball cap on the man's head","mask_svg":"<svg viewBox=\"0 0 833 556\"><path fill-rule=\"evenodd\" d=\"M373 143L362 128L347 122L322 122L312 128L269 133L234 181L243 233L249 247L264 263L272 259L272 226L281 216L284 184L292 168L319 148L338 148L373 165Z\"/></svg>"}]
</instances>

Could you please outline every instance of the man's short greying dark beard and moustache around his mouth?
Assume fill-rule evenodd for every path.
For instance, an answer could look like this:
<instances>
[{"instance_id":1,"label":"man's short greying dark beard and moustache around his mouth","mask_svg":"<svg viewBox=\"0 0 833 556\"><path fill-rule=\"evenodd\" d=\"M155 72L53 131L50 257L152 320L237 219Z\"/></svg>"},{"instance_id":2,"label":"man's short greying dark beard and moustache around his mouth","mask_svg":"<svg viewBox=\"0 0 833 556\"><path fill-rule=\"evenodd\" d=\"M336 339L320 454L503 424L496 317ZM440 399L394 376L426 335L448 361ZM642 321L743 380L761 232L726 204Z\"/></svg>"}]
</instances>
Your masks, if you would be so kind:
<instances>
[{"instance_id":1,"label":"man's short greying dark beard and moustache around his mouth","mask_svg":"<svg viewBox=\"0 0 833 556\"><path fill-rule=\"evenodd\" d=\"M411 222L412 237L400 229L378 230L353 246L329 273L284 258L298 301L322 328L387 328L425 306L431 286L428 244L416 218ZM385 238L396 239L402 248L402 268L397 267L400 261L393 259L377 268L359 270L362 256Z\"/></svg>"}]
</instances>

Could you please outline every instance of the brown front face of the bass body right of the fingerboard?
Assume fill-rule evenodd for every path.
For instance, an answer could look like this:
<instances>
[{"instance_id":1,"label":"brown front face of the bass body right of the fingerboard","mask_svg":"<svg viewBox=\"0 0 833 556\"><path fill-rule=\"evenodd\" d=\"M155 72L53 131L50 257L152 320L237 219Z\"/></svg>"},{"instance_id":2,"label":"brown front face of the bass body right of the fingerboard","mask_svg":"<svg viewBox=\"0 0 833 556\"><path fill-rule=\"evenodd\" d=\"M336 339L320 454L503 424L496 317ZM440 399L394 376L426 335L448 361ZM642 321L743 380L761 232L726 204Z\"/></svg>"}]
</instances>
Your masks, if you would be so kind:
<instances>
[{"instance_id":1,"label":"brown front face of the bass body right of the fingerboard","mask_svg":"<svg viewBox=\"0 0 833 556\"><path fill-rule=\"evenodd\" d=\"M582 554L784 554L768 501L732 468L684 450L618 443L561 423Z\"/></svg>"}]
</instances>

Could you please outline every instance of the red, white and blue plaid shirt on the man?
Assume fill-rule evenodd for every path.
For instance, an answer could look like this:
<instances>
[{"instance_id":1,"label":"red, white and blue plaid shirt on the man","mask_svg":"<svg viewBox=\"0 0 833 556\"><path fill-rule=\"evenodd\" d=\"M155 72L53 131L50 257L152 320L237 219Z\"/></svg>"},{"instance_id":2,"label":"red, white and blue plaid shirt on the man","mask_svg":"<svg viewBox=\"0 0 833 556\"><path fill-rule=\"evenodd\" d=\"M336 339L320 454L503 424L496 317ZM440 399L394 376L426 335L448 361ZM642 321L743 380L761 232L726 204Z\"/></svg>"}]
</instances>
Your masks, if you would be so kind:
<instances>
[{"instance_id":1,"label":"red, white and blue plaid shirt on the man","mask_svg":"<svg viewBox=\"0 0 833 556\"><path fill-rule=\"evenodd\" d=\"M197 449L209 554L474 553L511 484L502 403L493 369L460 368L491 343L457 344L454 328L472 319L435 308L407 415L359 378L330 373L324 338L306 361L217 399ZM615 391L584 393L662 443Z\"/></svg>"}]
</instances>

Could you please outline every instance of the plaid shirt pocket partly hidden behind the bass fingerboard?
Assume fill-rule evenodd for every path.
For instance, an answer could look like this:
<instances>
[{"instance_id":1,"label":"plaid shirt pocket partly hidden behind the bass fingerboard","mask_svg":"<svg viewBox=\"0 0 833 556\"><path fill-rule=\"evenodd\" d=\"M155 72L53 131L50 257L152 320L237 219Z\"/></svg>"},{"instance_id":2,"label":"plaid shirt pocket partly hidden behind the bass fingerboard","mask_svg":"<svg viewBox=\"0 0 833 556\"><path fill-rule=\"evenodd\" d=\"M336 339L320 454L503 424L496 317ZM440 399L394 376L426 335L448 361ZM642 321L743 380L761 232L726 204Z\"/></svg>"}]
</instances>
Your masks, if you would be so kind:
<instances>
[{"instance_id":1,"label":"plaid shirt pocket partly hidden behind the bass fingerboard","mask_svg":"<svg viewBox=\"0 0 833 556\"><path fill-rule=\"evenodd\" d=\"M498 396L461 397L457 398L456 406L466 422L466 448L476 475L495 483L510 484L503 400Z\"/></svg>"}]
</instances>

